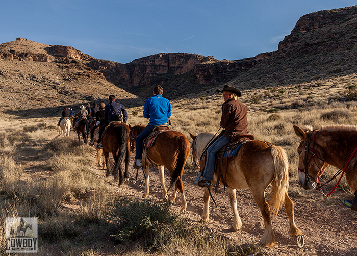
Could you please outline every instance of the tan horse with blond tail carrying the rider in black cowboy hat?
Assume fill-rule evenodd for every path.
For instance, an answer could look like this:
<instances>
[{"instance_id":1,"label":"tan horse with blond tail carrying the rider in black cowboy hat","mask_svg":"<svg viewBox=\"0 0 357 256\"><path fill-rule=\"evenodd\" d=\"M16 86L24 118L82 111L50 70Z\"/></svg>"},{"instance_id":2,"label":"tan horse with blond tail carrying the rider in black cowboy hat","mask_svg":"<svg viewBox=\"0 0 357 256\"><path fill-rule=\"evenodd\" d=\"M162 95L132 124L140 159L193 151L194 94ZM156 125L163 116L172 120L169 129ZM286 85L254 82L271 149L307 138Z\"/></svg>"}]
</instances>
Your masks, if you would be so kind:
<instances>
[{"instance_id":1,"label":"tan horse with blond tail carrying the rider in black cowboy hat","mask_svg":"<svg viewBox=\"0 0 357 256\"><path fill-rule=\"evenodd\" d=\"M197 136L190 135L193 139L191 147L193 164L195 164L198 163L203 150L214 137L214 133L200 133ZM302 232L294 222L294 203L288 196L288 165L288 158L282 147L257 140L244 143L237 155L234 158L228 159L227 168L226 170L222 170L221 177L224 177L234 214L234 221L230 231L237 231L242 227L242 222L237 211L236 189L249 188L264 219L265 230L261 242L269 247L274 245L269 205L272 206L273 216L275 217L284 202L284 207L289 218L289 234L300 248L303 246ZM219 182L224 185L221 179L217 181L218 175L219 171L216 169L212 183ZM269 184L272 184L272 189L269 195L270 200L267 203L265 190ZM209 188L205 188L203 202L202 220L203 222L207 222L210 215Z\"/></svg>"}]
</instances>

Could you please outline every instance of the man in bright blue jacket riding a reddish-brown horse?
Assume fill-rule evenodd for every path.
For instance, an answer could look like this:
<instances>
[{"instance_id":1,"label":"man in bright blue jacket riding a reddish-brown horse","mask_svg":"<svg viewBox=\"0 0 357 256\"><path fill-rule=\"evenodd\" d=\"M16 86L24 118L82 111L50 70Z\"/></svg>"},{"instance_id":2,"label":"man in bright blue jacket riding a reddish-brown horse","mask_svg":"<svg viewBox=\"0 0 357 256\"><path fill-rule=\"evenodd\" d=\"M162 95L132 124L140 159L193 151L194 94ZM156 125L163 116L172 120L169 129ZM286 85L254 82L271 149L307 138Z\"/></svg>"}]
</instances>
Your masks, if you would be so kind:
<instances>
[{"instance_id":1,"label":"man in bright blue jacket riding a reddish-brown horse","mask_svg":"<svg viewBox=\"0 0 357 256\"><path fill-rule=\"evenodd\" d=\"M171 104L170 101L162 97L164 89L158 85L154 88L154 96L148 98L144 104L144 117L150 119L149 124L145 129L136 137L135 140L135 162L134 168L140 168L142 166L142 142L149 136L156 126L168 125L169 118L171 116Z\"/></svg>"}]
</instances>

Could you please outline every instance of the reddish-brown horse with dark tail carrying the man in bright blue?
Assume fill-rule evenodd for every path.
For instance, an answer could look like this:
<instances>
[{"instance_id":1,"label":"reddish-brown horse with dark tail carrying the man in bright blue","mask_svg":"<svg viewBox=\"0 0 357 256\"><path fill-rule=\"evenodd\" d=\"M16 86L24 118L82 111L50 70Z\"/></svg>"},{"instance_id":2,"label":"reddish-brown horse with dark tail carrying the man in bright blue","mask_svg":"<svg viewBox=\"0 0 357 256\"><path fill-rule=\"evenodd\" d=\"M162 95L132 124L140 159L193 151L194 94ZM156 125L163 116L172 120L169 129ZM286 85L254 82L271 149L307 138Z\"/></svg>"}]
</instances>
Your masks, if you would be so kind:
<instances>
[{"instance_id":1,"label":"reddish-brown horse with dark tail carrying the man in bright blue","mask_svg":"<svg viewBox=\"0 0 357 256\"><path fill-rule=\"evenodd\" d=\"M130 146L132 152L135 151L135 139L144 128L145 126L143 125L136 125L130 131ZM143 197L146 197L149 194L149 164L155 164L158 166L160 181L163 187L163 201L168 201L167 191L170 190L173 184L175 184L175 190L171 195L170 202L174 203L177 190L180 190L182 201L180 211L185 213L187 203L181 177L189 155L190 142L185 135L171 130L166 130L160 133L156 139L155 145L147 149L147 155L145 152L143 153L142 162L145 174L145 193L143 194ZM165 187L164 166L169 170L171 176L168 190L166 190Z\"/></svg>"}]
</instances>

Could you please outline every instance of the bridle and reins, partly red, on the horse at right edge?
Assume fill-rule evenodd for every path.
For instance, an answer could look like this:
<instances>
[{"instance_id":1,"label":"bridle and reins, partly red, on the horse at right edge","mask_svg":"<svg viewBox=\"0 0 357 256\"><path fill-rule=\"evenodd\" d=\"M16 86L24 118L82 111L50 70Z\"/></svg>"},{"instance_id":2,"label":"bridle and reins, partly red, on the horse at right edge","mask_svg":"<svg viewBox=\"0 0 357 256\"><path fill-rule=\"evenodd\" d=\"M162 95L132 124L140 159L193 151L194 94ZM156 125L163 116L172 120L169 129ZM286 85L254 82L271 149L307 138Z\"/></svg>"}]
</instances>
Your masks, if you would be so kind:
<instances>
[{"instance_id":1,"label":"bridle and reins, partly red, on the horse at right edge","mask_svg":"<svg viewBox=\"0 0 357 256\"><path fill-rule=\"evenodd\" d=\"M312 148L310 148L311 134L312 134L313 132L315 132L315 131L316 131L316 133L315 133L315 135L314 135L313 145L312 145ZM314 180L314 181L316 182L317 187L313 186L316 190L321 190L321 188L322 188L323 186L325 186L325 185L328 184L329 182L335 180L335 178L342 172L342 174L341 174L341 176L340 176L338 182L336 183L335 187L333 188L333 190L331 190L328 194L325 194L324 192L322 192L323 196L330 196L332 193L335 192L337 186L339 185L339 183L340 183L340 181L341 181L341 179L342 179L342 176L343 176L343 174L345 173L345 171L346 171L346 169L347 169L347 166L349 165L351 159L354 157L354 155L355 155L356 152L357 152L357 147L354 149L354 151L352 152L352 154L350 155L350 157L347 159L347 161L342 165L342 167L344 167L344 168L343 168L343 171L342 171L342 167L341 167L333 177L331 177L331 178L330 178L328 181L326 181L325 183L321 184L321 183L320 183L320 176L322 175L322 172L324 172L324 170L321 171L319 177L317 178L317 181L314 179L314 177L312 177L311 175L308 174L308 164L310 163L311 159L313 159L314 162L315 162L315 164L316 164L316 166L319 167L319 166L317 165L316 161L315 161L316 153L318 154L318 157L317 157L318 159L320 159L321 161L326 162L325 160L323 160L323 159L321 158L320 153L315 150L315 140L316 140L316 136L317 136L317 134L318 134L319 131L320 131L320 130L316 130L316 129L315 129L314 131L312 131L311 133L308 134L308 139L307 139L307 141L305 142L305 145L306 145L306 146L305 146L305 158L304 158L305 169L303 170L303 169L298 168L298 170L299 170L300 172L305 172L305 180L307 180L307 182L308 182L310 185L311 185L311 183L310 183L311 180ZM311 158L308 160L309 150L311 150ZM321 168L319 168L319 169L321 169ZM309 180L310 180L310 181L309 181Z\"/></svg>"}]
</instances>

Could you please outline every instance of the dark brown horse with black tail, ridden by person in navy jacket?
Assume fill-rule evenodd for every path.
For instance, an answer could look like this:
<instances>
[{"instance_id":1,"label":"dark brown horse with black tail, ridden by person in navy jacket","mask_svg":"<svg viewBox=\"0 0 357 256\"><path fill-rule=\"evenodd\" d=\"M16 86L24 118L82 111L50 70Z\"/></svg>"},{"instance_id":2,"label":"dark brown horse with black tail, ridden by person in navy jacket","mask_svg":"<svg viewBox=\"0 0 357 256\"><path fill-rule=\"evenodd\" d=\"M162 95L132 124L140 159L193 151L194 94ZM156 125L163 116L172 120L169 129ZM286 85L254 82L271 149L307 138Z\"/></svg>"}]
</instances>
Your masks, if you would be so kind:
<instances>
[{"instance_id":1,"label":"dark brown horse with black tail, ridden by person in navy jacket","mask_svg":"<svg viewBox=\"0 0 357 256\"><path fill-rule=\"evenodd\" d=\"M119 187L124 183L129 183L129 159L130 159L130 144L129 144L129 132L131 126L128 126L121 122L111 123L101 137L101 144L103 145L103 155L106 158L107 173L114 176L114 181L118 180ZM112 153L114 159L114 165L110 168L109 153ZM122 173L121 163L124 159L125 172L124 177Z\"/></svg>"}]
</instances>

